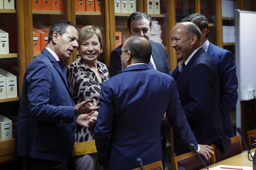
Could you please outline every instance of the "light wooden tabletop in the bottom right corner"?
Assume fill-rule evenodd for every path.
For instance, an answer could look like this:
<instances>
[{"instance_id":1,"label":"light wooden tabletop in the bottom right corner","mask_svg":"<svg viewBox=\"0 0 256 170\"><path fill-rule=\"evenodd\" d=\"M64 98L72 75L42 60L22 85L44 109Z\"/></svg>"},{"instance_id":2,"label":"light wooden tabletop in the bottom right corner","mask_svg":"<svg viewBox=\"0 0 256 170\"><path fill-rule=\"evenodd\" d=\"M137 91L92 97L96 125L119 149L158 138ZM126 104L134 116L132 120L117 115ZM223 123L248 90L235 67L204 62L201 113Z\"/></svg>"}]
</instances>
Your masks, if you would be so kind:
<instances>
[{"instance_id":1,"label":"light wooden tabletop in the bottom right corner","mask_svg":"<svg viewBox=\"0 0 256 170\"><path fill-rule=\"evenodd\" d=\"M251 152L254 152L255 149L252 149ZM241 154L235 155L229 159L217 162L213 165L208 166L208 168L213 168L217 165L234 165L234 166L249 166L252 167L252 161L248 160L248 152L242 152ZM205 168L201 169L205 170Z\"/></svg>"}]
</instances>

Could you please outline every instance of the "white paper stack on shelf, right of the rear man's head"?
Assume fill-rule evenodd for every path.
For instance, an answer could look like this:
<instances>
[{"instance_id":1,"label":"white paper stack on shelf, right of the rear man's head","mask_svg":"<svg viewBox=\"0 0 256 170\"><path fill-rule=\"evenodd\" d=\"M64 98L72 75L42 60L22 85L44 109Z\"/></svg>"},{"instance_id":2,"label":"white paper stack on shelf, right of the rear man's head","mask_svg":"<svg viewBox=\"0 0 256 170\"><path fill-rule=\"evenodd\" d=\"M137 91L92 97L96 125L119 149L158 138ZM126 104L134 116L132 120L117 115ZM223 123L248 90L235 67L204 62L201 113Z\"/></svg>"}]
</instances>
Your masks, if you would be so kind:
<instances>
[{"instance_id":1,"label":"white paper stack on shelf, right of the rear man's head","mask_svg":"<svg viewBox=\"0 0 256 170\"><path fill-rule=\"evenodd\" d=\"M151 36L150 36L150 41L154 41L157 43L160 43L163 47L164 45L162 44L162 39L161 39L161 26L158 24L157 20L152 20L152 26L151 26Z\"/></svg>"}]
</instances>

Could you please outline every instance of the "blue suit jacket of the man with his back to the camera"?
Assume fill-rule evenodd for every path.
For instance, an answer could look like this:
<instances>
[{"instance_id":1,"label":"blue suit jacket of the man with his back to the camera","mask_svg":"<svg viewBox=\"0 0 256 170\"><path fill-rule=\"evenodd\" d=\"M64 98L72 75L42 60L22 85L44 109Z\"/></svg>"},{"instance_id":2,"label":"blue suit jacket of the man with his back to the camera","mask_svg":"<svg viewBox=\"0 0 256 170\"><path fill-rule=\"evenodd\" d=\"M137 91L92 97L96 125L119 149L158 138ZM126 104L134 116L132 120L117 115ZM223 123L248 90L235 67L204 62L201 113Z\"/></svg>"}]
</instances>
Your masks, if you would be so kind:
<instances>
[{"instance_id":1,"label":"blue suit jacket of the man with his back to the camera","mask_svg":"<svg viewBox=\"0 0 256 170\"><path fill-rule=\"evenodd\" d=\"M197 141L187 123L174 79L148 64L127 67L102 83L94 137L99 162L109 170L162 160L160 127L166 111L188 149Z\"/></svg>"}]
</instances>

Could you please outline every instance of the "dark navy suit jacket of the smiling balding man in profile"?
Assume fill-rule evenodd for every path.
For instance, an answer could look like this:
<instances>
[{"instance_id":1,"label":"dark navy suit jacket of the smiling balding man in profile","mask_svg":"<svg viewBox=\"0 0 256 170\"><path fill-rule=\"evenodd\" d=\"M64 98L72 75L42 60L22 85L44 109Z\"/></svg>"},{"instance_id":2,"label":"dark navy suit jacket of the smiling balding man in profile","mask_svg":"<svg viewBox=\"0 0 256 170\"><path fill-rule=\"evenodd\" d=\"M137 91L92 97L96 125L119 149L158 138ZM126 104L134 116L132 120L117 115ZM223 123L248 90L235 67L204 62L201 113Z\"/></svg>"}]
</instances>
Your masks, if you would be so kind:
<instances>
[{"instance_id":1,"label":"dark navy suit jacket of the smiling balding man in profile","mask_svg":"<svg viewBox=\"0 0 256 170\"><path fill-rule=\"evenodd\" d=\"M173 76L182 109L197 142L204 145L222 143L224 150L228 150L230 139L224 134L219 113L219 77L213 59L200 48L181 73L178 73L178 67L175 68ZM174 142L174 146L182 143L176 136Z\"/></svg>"}]
</instances>

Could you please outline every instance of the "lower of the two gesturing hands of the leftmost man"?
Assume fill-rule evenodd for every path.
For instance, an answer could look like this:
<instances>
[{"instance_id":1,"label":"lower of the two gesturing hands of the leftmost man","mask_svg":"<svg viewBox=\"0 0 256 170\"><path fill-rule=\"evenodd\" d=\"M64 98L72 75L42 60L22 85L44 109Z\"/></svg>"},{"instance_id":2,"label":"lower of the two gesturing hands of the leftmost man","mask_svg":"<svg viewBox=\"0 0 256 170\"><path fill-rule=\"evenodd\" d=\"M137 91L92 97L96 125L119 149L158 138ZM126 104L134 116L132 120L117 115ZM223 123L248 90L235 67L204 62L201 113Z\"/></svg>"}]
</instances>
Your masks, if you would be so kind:
<instances>
[{"instance_id":1,"label":"lower of the two gesturing hands of the leftmost man","mask_svg":"<svg viewBox=\"0 0 256 170\"><path fill-rule=\"evenodd\" d=\"M80 114L76 119L76 124L87 128L94 127L97 118L91 116L92 113L93 112L89 114Z\"/></svg>"}]
</instances>

